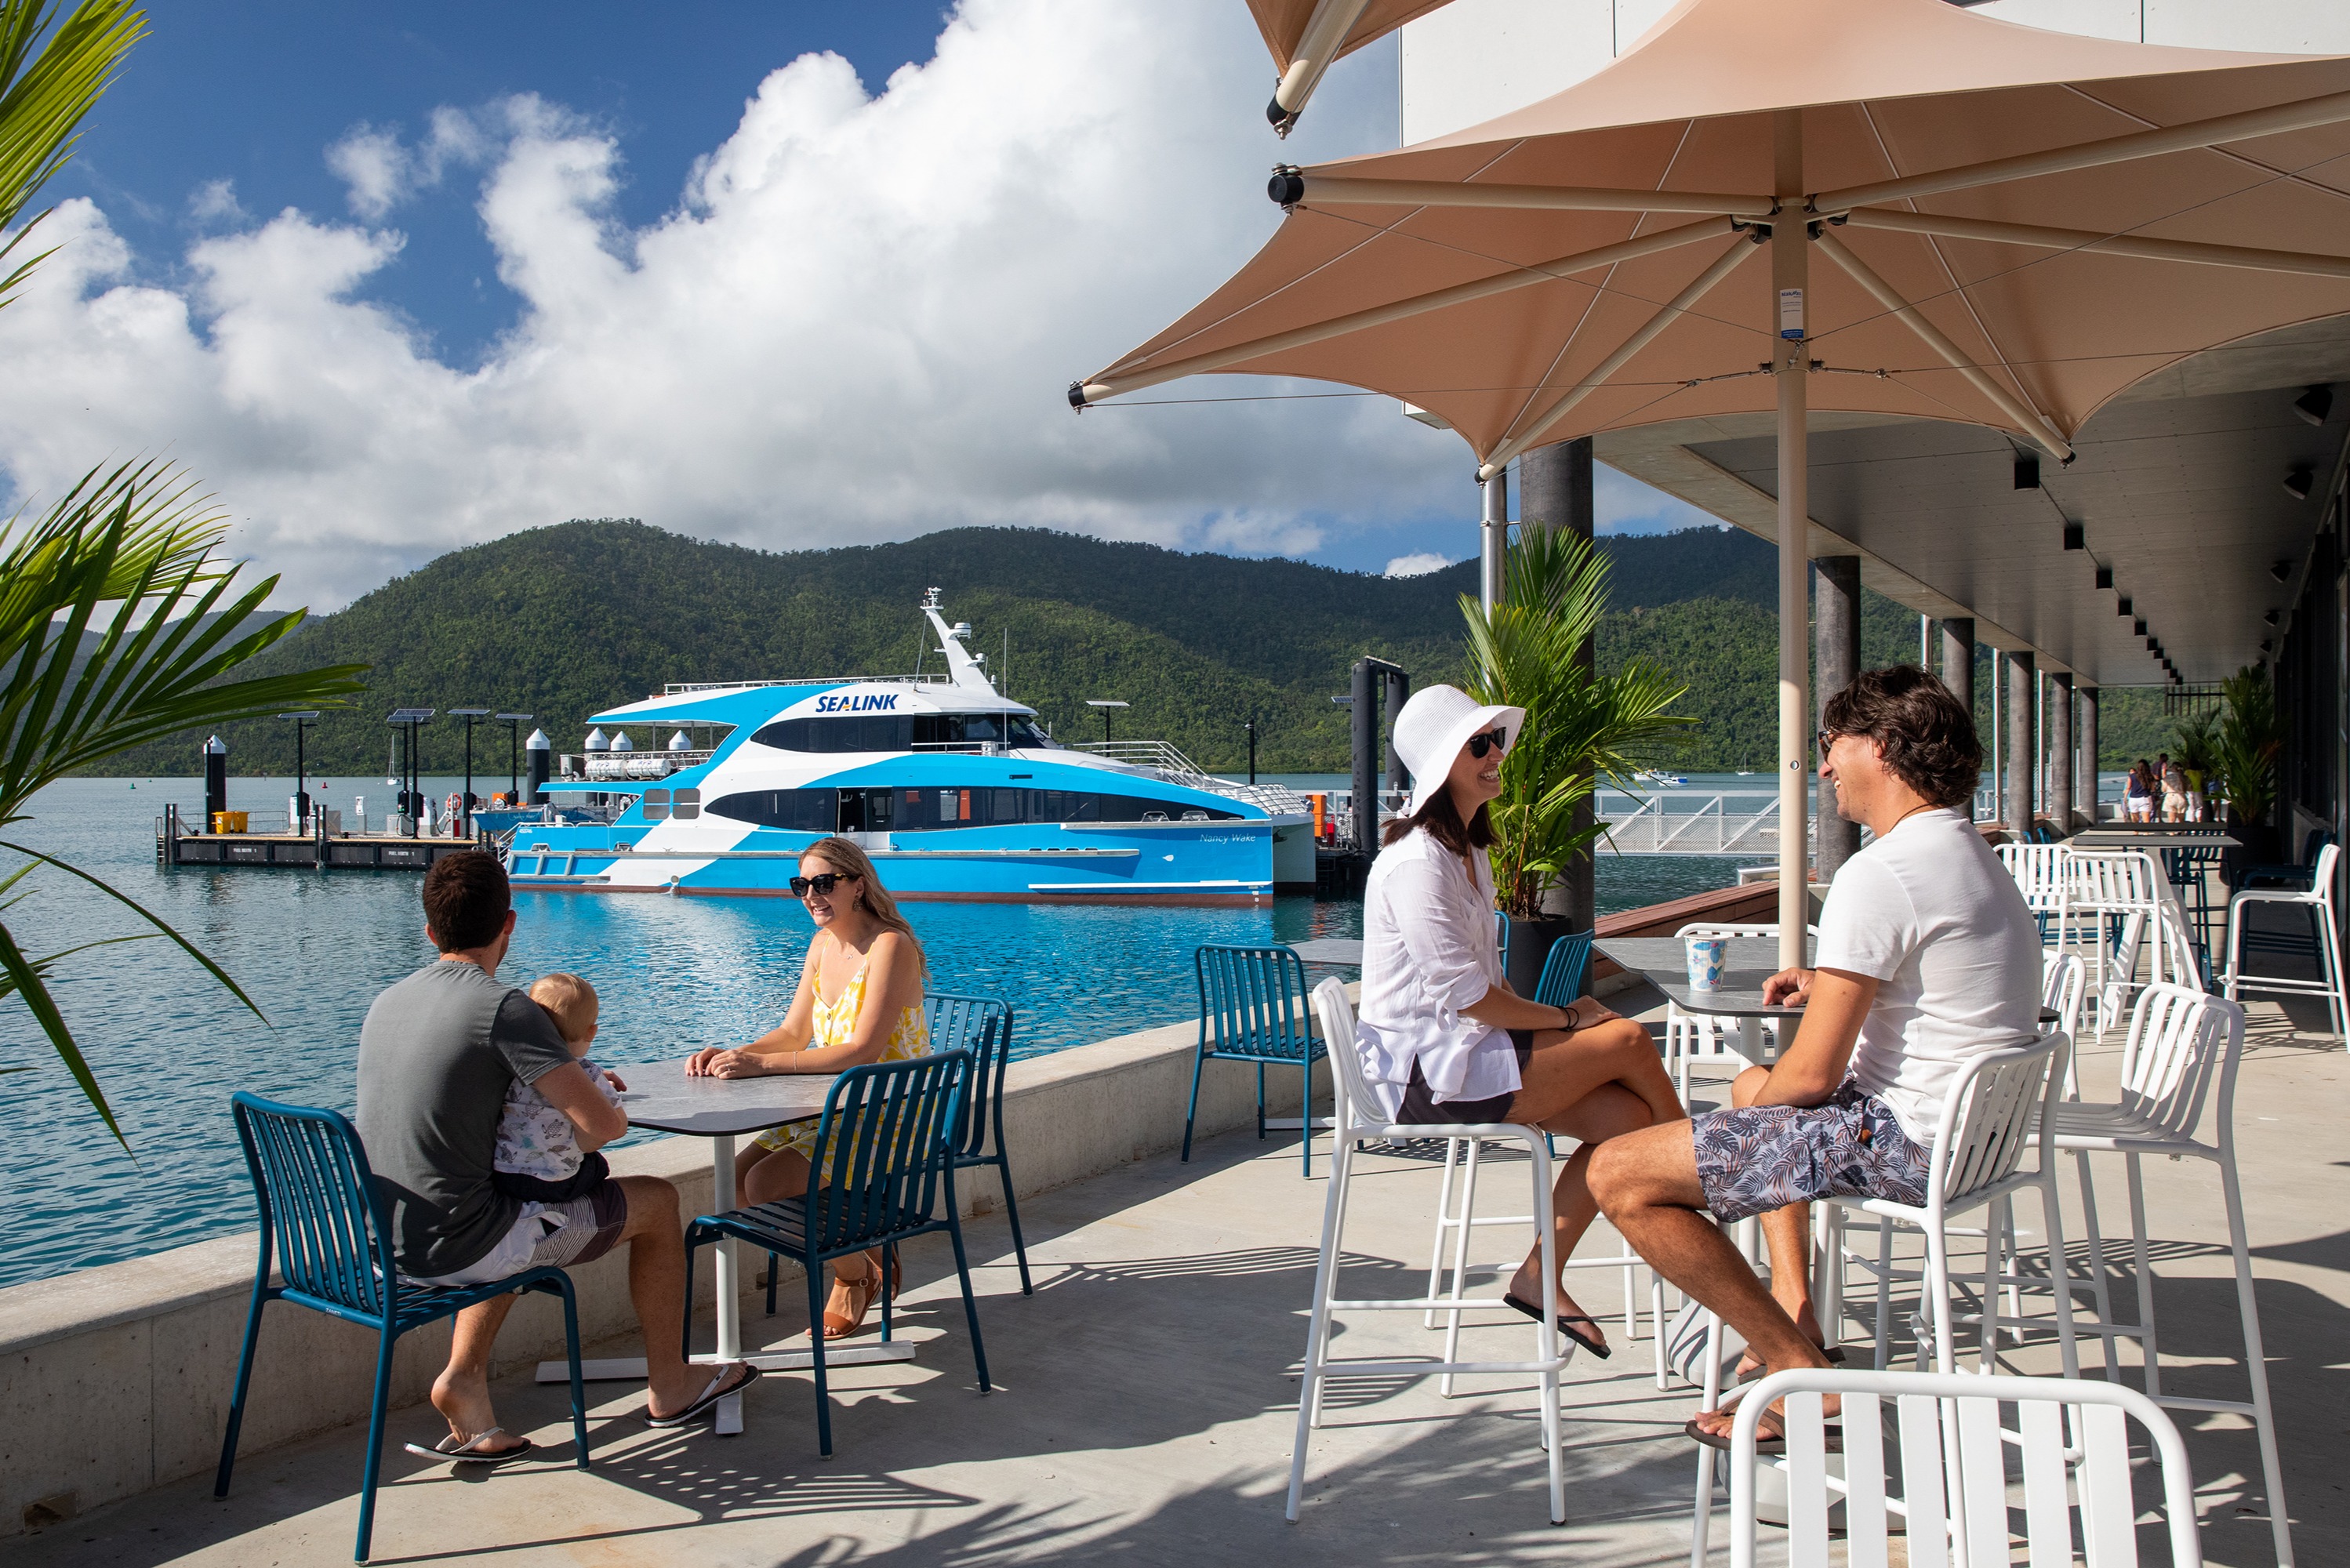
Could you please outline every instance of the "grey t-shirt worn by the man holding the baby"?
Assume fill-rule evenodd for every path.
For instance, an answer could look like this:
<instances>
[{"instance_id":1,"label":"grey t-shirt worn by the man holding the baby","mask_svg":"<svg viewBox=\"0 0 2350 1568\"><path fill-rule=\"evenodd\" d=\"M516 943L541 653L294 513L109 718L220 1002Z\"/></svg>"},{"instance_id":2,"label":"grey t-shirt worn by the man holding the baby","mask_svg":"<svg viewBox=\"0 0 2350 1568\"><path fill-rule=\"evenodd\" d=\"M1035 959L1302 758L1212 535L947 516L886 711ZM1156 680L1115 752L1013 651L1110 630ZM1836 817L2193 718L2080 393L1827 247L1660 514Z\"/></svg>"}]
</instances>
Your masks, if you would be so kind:
<instances>
[{"instance_id":1,"label":"grey t-shirt worn by the man holding the baby","mask_svg":"<svg viewBox=\"0 0 2350 1568\"><path fill-rule=\"evenodd\" d=\"M505 1088L569 1060L545 1009L479 964L428 964L367 1009L360 1140L404 1274L456 1274L512 1229L522 1199L491 1185Z\"/></svg>"}]
</instances>

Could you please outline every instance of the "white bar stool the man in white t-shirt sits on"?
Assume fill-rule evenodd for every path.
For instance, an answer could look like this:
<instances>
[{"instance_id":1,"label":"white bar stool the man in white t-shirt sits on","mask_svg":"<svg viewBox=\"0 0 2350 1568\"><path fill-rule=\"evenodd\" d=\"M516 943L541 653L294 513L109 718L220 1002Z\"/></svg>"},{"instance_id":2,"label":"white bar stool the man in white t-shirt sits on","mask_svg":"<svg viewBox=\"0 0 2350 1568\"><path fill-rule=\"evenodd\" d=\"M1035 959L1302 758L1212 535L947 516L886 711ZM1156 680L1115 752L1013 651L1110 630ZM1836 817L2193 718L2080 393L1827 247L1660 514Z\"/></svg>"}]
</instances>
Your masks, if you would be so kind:
<instances>
[{"instance_id":1,"label":"white bar stool the man in white t-shirt sits on","mask_svg":"<svg viewBox=\"0 0 2350 1568\"><path fill-rule=\"evenodd\" d=\"M1925 1206L1896 1204L1892 1199L1821 1199L1826 1211L1826 1255L1842 1258L1842 1218L1847 1208L1875 1215L1878 1222L1878 1371L1892 1347L1892 1227L1915 1225L1925 1232L1925 1276L1918 1291L1918 1307L1934 1340L1934 1371L1955 1371L1953 1328L1979 1324L1981 1359L1979 1371L1993 1373L1998 1366L1998 1333L2002 1326L2023 1328L2021 1316L2000 1316L1998 1300L2002 1276L2005 1229L2000 1215L2005 1201L2033 1187L2040 1192L2040 1208L2047 1220L2049 1276L2063 1274L2063 1213L2056 1197L2056 1145L2049 1131L2047 1107L2056 1103L2063 1086L2063 1058L2070 1039L2052 1030L2030 1044L2005 1051L1983 1051L1969 1058L1950 1081L1936 1119L1934 1157L1927 1168ZM2040 1112L2035 1117L2035 1112ZM2037 1119L2037 1128L2033 1126ZM2033 1168L2023 1168L2026 1147L2037 1145ZM1950 1309L1950 1234L1948 1220L1974 1208L1988 1208L1983 1237L1983 1295L1981 1312L1958 1314ZM2073 1342L2073 1298L2056 1291L2056 1345L2063 1375L2080 1375L2080 1354ZM1840 1319L1840 1312L1838 1312ZM1833 1331L1831 1331L1833 1333ZM1713 1319L1713 1335L1720 1335L1720 1319ZM1718 1345L1718 1338L1716 1338ZM1925 1356L1925 1338L1918 1345ZM1708 1347L1706 1354L1706 1403L1720 1408L1723 1354ZM1713 1519L1713 1448L1699 1448L1694 1530L1690 1535L1690 1568L1706 1563L1706 1533Z\"/></svg>"}]
</instances>

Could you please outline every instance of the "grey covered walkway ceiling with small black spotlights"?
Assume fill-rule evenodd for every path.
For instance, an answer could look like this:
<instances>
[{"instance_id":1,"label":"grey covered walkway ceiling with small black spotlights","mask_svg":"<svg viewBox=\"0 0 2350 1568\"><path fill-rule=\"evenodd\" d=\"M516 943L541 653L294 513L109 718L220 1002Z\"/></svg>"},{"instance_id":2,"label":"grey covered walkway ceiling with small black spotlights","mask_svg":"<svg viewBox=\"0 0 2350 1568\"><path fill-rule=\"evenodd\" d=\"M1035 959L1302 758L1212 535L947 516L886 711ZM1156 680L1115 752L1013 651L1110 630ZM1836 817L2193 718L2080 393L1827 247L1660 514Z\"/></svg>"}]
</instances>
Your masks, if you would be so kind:
<instances>
[{"instance_id":1,"label":"grey covered walkway ceiling with small black spotlights","mask_svg":"<svg viewBox=\"0 0 2350 1568\"><path fill-rule=\"evenodd\" d=\"M2312 425L2294 404L2331 386ZM2160 684L2143 618L2188 682L2261 658L2263 623L2298 581L2350 442L2350 317L2289 327L2195 355L2101 409L2075 435L2070 468L2040 458L2040 489L2016 489L2030 454L1981 425L1812 416L1817 555L1861 555L1878 592L1922 614L1974 616L2000 649L2096 686ZM1598 456L1692 505L1777 538L1770 416L1718 416L1598 437ZM2287 475L2308 470L2308 501ZM2068 522L2084 550L2063 548ZM2096 588L2096 569L2113 588ZM2120 597L2131 616L2117 614Z\"/></svg>"}]
</instances>

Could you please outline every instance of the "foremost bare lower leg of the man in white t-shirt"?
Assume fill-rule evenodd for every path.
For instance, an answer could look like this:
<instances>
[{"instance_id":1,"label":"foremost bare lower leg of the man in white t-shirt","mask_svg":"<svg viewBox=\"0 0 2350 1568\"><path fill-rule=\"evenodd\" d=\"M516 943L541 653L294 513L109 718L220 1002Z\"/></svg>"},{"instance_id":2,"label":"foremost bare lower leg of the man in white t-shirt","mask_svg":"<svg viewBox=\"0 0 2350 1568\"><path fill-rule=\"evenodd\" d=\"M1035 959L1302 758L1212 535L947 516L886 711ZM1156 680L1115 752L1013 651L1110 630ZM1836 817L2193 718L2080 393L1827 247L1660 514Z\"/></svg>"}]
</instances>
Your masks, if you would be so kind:
<instances>
[{"instance_id":1,"label":"foremost bare lower leg of the man in white t-shirt","mask_svg":"<svg viewBox=\"0 0 2350 1568\"><path fill-rule=\"evenodd\" d=\"M1765 1371L1828 1366L1828 1356L1772 1300L1706 1213L1687 1121L1610 1138L1593 1150L1589 1180L1600 1211L1633 1251L1737 1328ZM1730 1432L1730 1415L1720 1410L1704 1410L1697 1420Z\"/></svg>"}]
</instances>

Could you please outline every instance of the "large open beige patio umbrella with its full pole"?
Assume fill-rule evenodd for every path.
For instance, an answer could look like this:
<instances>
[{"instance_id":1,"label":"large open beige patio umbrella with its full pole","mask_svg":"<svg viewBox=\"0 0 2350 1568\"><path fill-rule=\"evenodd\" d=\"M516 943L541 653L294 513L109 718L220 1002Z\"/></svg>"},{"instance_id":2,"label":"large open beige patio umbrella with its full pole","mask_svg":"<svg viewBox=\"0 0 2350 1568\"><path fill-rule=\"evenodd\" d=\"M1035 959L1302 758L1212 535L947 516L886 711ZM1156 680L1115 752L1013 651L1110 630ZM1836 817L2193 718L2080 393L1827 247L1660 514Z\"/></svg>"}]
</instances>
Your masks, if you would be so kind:
<instances>
[{"instance_id":1,"label":"large open beige patio umbrella with its full pole","mask_svg":"<svg viewBox=\"0 0 2350 1568\"><path fill-rule=\"evenodd\" d=\"M2350 313L2350 59L2073 38L1941 0L1683 0L1567 92L1281 169L1274 197L1271 242L1074 404L1206 371L1337 381L1448 421L1488 482L1549 442L1779 414L1795 961L1805 411L1981 423L2068 461L2146 374Z\"/></svg>"}]
</instances>

